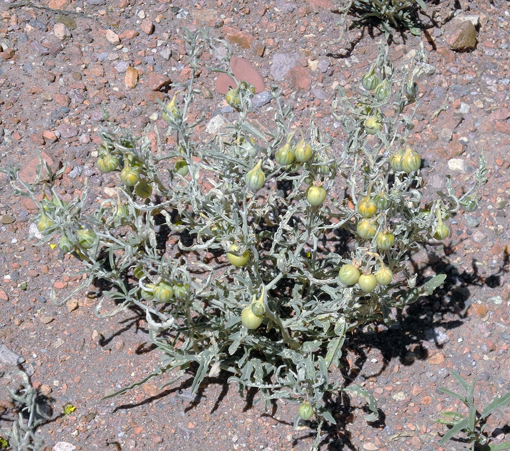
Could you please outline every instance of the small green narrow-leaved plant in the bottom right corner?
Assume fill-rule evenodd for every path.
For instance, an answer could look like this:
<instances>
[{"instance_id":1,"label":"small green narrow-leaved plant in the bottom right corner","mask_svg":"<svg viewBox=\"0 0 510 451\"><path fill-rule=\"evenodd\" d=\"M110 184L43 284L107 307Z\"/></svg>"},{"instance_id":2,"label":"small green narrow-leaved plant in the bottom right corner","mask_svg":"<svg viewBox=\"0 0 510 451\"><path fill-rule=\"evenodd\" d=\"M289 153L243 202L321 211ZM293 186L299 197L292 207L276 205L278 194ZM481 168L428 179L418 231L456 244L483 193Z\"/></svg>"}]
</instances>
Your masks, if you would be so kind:
<instances>
[{"instance_id":1,"label":"small green narrow-leaved plant in the bottom right corner","mask_svg":"<svg viewBox=\"0 0 510 451\"><path fill-rule=\"evenodd\" d=\"M463 415L453 411L441 412L440 418L435 421L442 423L443 425L451 426L451 428L443 435L439 444L444 445L448 442L448 440L452 440L456 435L464 433L466 441L469 443L469 447L472 451L475 451L475 449L480 449L481 451L510 449L510 443L508 442L491 444L486 433L487 418L496 409L510 403L510 391L503 396L494 398L480 413L475 406L474 401L474 387L476 380L473 380L471 384L468 384L458 373L452 371L451 374L462 385L465 393L456 393L443 387L439 387L439 390L464 403L464 405L468 408L468 413Z\"/></svg>"}]
</instances>

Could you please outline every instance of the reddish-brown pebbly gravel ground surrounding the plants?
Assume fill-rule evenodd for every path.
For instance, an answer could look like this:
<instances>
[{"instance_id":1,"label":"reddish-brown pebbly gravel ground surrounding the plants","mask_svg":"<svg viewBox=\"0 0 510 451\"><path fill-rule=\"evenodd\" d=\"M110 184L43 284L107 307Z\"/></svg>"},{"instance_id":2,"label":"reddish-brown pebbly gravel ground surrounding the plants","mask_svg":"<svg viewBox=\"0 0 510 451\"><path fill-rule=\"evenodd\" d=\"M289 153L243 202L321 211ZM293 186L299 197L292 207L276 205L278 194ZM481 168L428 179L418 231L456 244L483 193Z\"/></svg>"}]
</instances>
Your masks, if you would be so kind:
<instances>
[{"instance_id":1,"label":"reddish-brown pebbly gravel ground surrounding the plants","mask_svg":"<svg viewBox=\"0 0 510 451\"><path fill-rule=\"evenodd\" d=\"M479 16L473 51L454 52L446 44L446 19L455 5ZM183 27L209 26L230 41L268 85L282 88L297 124L306 124L313 111L317 125L339 139L329 113L335 89L350 92L360 83L375 56L374 42L382 39L377 29L342 33L336 3L328 0L43 0L40 8L29 2L9 6L0 3L0 154L4 164L19 165L27 177L39 153L65 164L59 189L70 198L86 179L95 196L113 186L110 175L97 171L93 156L104 125L101 105L122 127L141 130L154 122L155 100L168 99L161 87L186 79ZM399 65L423 43L433 68L418 80L412 142L423 155L427 189L442 189L446 174L462 183L481 150L489 181L480 208L455 216L446 242L415 257L420 271L448 275L444 287L407 308L398 327L373 326L350 338L338 377L372 390L381 419L367 424L364 404L354 397L330 400L338 424L323 430L321 450L464 449L458 441L440 447L445 427L432 421L443 410L464 412L461 403L438 391L458 388L449 371L477 379L480 406L510 390L510 14L504 1L430 8L437 10L437 26L422 37L397 35L390 49ZM204 106L208 119L231 114L215 78L200 77L211 92ZM294 406L278 402L265 412L223 378L209 380L197 395L189 391L191 379L164 391L158 389L162 380L152 380L99 401L141 379L159 356L135 312L99 320L97 301L83 292L62 308L49 302L50 288L64 296L82 275L72 257L29 237L35 213L33 204L12 196L3 176L0 343L22 356L33 385L54 409L54 420L40 429L47 449L66 449L59 442L84 450L310 449L314 424L293 430ZM0 367L0 409L6 409L0 426L9 427L5 389L16 387L15 365ZM67 403L77 409L59 416ZM509 408L489 418L495 443L504 441L508 425Z\"/></svg>"}]
</instances>

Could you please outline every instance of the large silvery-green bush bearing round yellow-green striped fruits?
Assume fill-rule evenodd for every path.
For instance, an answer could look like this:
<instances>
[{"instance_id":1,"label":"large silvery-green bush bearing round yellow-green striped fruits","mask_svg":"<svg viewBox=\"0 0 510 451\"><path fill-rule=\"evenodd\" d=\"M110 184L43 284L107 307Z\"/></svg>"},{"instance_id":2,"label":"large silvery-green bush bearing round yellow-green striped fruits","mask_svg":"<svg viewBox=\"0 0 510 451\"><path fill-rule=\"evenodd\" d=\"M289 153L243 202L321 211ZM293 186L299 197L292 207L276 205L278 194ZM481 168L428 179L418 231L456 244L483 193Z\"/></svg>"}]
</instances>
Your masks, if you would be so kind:
<instances>
[{"instance_id":1,"label":"large silvery-green bush bearing round yellow-green striped fruits","mask_svg":"<svg viewBox=\"0 0 510 451\"><path fill-rule=\"evenodd\" d=\"M339 377L344 341L442 283L417 286L407 259L418 243L448 236L451 214L477 207L483 158L462 197L450 179L446 193L422 195L410 133L423 52L413 71L397 71L381 46L354 93L339 89L331 114L345 131L334 140L312 116L296 127L277 87L261 123L245 81L225 95L231 112L206 121L198 74L228 72L232 49L205 30L185 36L190 78L161 103L162 119L141 136L114 123L101 132L97 168L115 180L114 196L66 201L60 172L42 165L50 181L41 199L40 184L5 170L15 194L38 205L42 240L83 263L82 288L103 286L96 314L145 315L161 362L112 396L189 374L195 392L224 371L242 395L258 389L266 408L295 403L295 424L315 418L317 440L324 420L335 423L326 394L362 396L374 421L374 397ZM213 66L200 59L206 50ZM213 137L205 122L221 125Z\"/></svg>"}]
</instances>

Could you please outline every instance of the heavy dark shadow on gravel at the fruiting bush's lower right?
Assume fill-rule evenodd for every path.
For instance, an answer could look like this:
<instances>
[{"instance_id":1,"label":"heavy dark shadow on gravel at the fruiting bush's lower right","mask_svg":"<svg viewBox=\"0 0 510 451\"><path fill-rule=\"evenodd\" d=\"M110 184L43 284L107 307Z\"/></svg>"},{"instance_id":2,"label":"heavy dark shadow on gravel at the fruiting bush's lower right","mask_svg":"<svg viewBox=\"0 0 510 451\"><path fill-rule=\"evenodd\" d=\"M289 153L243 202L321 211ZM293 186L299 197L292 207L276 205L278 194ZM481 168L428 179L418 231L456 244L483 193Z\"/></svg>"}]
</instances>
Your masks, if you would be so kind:
<instances>
[{"instance_id":1,"label":"heavy dark shadow on gravel at the fruiting bush's lower right","mask_svg":"<svg viewBox=\"0 0 510 451\"><path fill-rule=\"evenodd\" d=\"M470 287L498 288L502 286L502 276L510 272L510 255L506 250L501 256L499 268L491 275L484 277L479 274L476 259L471 262L472 271L460 272L450 263L448 255L452 250L445 248L446 257L440 258L435 248L425 247L428 261L417 262L411 260L416 274L419 275L417 285L426 282L430 277L423 277L425 272L432 270L435 274L446 274L443 285L431 296L421 297L415 302L398 311L398 324L387 327L385 325L369 325L354 331L344 348L344 358L341 369L345 386L354 382L361 382L370 377L377 377L388 367L390 362L398 359L402 365L412 365L416 360L424 360L430 349L441 349L448 341L442 331L448 331L464 324L467 309L471 305ZM367 355L371 349L378 349L382 354L381 367L377 373L363 374L367 362ZM349 365L346 354L350 352L356 356L352 366ZM357 379L357 380L356 380ZM350 398L341 393L336 400L326 399L326 407L337 420L336 425L324 423L319 449L328 451L355 450L351 442L351 433L346 430L352 422L354 408ZM366 409L368 413L368 408ZM316 426L309 422L312 429ZM379 410L379 420L369 422L374 428L385 427L385 414ZM507 429L507 427L505 427ZM314 437L308 434L305 437Z\"/></svg>"}]
</instances>

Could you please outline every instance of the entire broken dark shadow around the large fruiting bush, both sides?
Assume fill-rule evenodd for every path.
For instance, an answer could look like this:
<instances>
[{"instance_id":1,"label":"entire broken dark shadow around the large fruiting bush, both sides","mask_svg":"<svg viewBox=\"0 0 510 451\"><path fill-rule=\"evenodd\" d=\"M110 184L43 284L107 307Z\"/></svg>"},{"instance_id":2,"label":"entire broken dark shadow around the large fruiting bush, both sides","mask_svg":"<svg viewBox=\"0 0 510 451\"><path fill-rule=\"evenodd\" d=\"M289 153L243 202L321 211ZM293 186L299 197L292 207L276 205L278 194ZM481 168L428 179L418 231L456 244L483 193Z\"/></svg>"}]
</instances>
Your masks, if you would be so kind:
<instances>
[{"instance_id":1,"label":"entire broken dark shadow around the large fruiting bush, both sides","mask_svg":"<svg viewBox=\"0 0 510 451\"><path fill-rule=\"evenodd\" d=\"M431 272L446 274L445 282L433 295L420 297L414 304L397 311L394 325L372 324L355 330L348 336L342 360L344 367L340 370L345 381L344 386L379 376L394 359L398 359L402 365L409 366L416 360L426 359L429 356L430 349L442 348L448 341L444 330L448 331L464 324L463 320L467 316L467 309L471 305L470 287L497 288L502 285L502 276L510 270L510 255L507 252L501 256L500 266L493 274L482 276L478 271L479 265L475 259L472 260L472 271L460 272L448 259L448 255L453 253L451 249L444 248L446 256L442 258L436 254L436 248L433 246L426 246L425 251L427 261L410 259L414 271L418 274L417 285L426 282L431 276L425 277L424 274L430 274ZM107 346L114 337L121 335L132 327L138 330L139 322L143 323L142 320L143 316L130 317L124 320L123 323L120 323L124 324L124 327L114 332L111 337L101 336L101 346ZM147 343L147 346L141 345L140 353L150 352L152 349L154 347ZM381 367L377 373L364 374L363 369L371 349L378 349L382 354ZM351 365L346 359L348 353L355 356ZM190 377L183 380L179 386L166 389L138 403L117 406L113 412L133 409L167 396L171 398L170 403L186 404L184 411L188 412L194 409L206 396L205 392L208 386L216 385L221 386L221 390L210 411L210 413L214 413L228 394L230 389L228 377L230 374L222 372L218 377L206 378L200 385L199 390L193 394L190 387L193 382L194 370L196 368L189 368ZM246 404L244 411L253 407L257 394L258 390L256 388L245 390L244 400ZM324 403L334 415L337 424L323 424L319 449L322 451L326 449L328 451L355 450L356 448L351 441L352 434L347 430L349 423L354 420L354 410L357 408L351 405L350 396L345 392L340 393L337 399L325 396ZM275 418L276 412L277 402L272 400L270 412L266 415L279 421ZM287 425L291 424L289 422L285 423ZM315 437L317 423L308 422L307 424L311 428L310 432L296 437L294 445L297 445L300 440ZM384 412L379 410L379 419L376 422L370 422L369 425L374 428L384 428Z\"/></svg>"}]
</instances>

